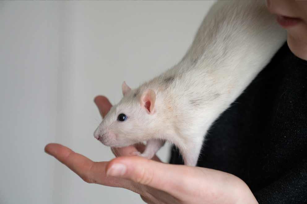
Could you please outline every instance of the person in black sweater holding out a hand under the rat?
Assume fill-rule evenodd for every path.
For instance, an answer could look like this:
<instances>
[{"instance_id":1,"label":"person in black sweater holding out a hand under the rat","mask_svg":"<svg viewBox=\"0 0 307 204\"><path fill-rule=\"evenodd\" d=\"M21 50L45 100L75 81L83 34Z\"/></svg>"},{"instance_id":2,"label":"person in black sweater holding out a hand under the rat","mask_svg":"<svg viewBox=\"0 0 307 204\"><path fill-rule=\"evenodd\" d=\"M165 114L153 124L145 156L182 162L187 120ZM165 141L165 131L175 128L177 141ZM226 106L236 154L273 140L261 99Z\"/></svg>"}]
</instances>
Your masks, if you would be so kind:
<instances>
[{"instance_id":1,"label":"person in black sweater holding out a hand under the rat","mask_svg":"<svg viewBox=\"0 0 307 204\"><path fill-rule=\"evenodd\" d=\"M214 123L198 167L175 165L182 163L176 148L171 164L129 155L143 145L113 148L108 162L60 144L45 152L84 181L132 190L147 203L307 202L307 3L268 0L267 7L287 43ZM110 102L94 102L104 117Z\"/></svg>"}]
</instances>

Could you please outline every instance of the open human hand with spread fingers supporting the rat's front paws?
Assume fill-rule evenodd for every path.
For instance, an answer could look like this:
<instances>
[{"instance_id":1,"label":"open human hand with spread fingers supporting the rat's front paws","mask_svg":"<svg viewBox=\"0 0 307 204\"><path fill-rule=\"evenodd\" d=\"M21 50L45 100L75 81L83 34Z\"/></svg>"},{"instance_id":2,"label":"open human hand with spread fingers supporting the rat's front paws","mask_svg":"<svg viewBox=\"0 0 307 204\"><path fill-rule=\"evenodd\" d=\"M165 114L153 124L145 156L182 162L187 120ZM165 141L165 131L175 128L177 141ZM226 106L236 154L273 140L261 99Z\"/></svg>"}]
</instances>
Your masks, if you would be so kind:
<instances>
[{"instance_id":1,"label":"open human hand with spread fingers supporting the rat's front paws","mask_svg":"<svg viewBox=\"0 0 307 204\"><path fill-rule=\"evenodd\" d=\"M110 110L107 98L95 98L102 117ZM238 177L214 169L162 163L129 156L144 150L137 145L113 148L117 158L93 162L60 144L48 144L45 152L54 156L88 183L122 187L137 194L146 203L257 203L249 187Z\"/></svg>"}]
</instances>

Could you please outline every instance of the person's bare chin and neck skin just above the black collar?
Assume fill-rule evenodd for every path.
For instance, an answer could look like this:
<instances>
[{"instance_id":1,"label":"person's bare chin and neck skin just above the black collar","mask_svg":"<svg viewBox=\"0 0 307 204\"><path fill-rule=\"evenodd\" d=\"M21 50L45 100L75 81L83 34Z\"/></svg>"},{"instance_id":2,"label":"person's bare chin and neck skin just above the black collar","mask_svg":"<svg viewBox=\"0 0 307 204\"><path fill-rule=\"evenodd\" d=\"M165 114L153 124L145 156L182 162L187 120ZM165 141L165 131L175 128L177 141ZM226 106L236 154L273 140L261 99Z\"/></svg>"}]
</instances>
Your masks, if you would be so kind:
<instances>
[{"instance_id":1,"label":"person's bare chin and neck skin just above the black collar","mask_svg":"<svg viewBox=\"0 0 307 204\"><path fill-rule=\"evenodd\" d=\"M307 42L296 40L291 35L288 35L287 43L295 56L307 60Z\"/></svg>"}]
</instances>

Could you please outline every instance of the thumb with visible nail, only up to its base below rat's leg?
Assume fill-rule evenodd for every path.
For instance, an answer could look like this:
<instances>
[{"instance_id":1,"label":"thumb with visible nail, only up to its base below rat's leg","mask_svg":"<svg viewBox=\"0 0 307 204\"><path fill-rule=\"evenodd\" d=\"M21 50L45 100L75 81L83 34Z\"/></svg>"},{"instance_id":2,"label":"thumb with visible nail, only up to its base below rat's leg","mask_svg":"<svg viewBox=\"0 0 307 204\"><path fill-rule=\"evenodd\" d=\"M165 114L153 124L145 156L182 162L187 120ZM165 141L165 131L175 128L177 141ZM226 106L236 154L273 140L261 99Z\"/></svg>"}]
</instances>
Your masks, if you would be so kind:
<instances>
[{"instance_id":1,"label":"thumb with visible nail, only up to its base below rat's leg","mask_svg":"<svg viewBox=\"0 0 307 204\"><path fill-rule=\"evenodd\" d=\"M184 176L189 172L188 168L190 167L165 164L141 156L123 156L109 162L106 174L179 195L182 192L181 187L190 183L188 177Z\"/></svg>"}]
</instances>

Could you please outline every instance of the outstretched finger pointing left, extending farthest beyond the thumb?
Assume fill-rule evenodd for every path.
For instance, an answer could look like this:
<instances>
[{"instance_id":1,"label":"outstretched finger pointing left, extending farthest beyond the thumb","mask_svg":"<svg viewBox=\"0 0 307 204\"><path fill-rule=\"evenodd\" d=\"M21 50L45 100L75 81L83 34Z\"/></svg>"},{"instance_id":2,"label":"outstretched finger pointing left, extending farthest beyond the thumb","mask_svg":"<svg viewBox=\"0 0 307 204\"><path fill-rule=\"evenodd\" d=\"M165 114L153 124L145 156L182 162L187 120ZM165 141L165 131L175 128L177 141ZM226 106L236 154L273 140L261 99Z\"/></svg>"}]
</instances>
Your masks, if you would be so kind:
<instances>
[{"instance_id":1,"label":"outstretched finger pointing left, extending farthest beyond the thumb","mask_svg":"<svg viewBox=\"0 0 307 204\"><path fill-rule=\"evenodd\" d=\"M130 181L115 177L106 178L105 169L108 162L93 162L61 144L48 144L45 146L45 152L65 164L85 182L134 190Z\"/></svg>"}]
</instances>

